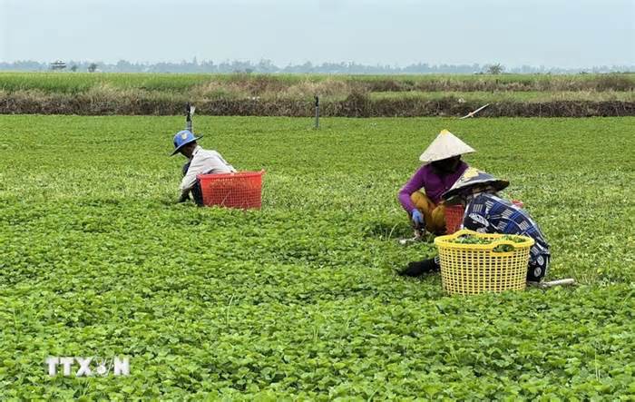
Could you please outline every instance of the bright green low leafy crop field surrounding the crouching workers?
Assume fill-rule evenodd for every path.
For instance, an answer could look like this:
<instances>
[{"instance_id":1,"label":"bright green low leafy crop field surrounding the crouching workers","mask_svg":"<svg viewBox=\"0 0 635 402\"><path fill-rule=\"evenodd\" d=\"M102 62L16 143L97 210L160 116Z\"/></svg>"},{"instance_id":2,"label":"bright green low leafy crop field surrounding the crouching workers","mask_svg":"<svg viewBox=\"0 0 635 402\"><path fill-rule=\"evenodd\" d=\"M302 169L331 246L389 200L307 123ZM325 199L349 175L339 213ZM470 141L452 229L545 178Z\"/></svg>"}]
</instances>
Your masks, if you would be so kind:
<instances>
[{"instance_id":1,"label":"bright green low leafy crop field surrounding the crouching workers","mask_svg":"<svg viewBox=\"0 0 635 402\"><path fill-rule=\"evenodd\" d=\"M181 117L0 116L0 399L635 395L635 118L197 117L261 211L173 205ZM574 289L446 297L396 191L447 128ZM49 377L48 356L131 357ZM77 369L76 367L74 368Z\"/></svg>"}]
</instances>

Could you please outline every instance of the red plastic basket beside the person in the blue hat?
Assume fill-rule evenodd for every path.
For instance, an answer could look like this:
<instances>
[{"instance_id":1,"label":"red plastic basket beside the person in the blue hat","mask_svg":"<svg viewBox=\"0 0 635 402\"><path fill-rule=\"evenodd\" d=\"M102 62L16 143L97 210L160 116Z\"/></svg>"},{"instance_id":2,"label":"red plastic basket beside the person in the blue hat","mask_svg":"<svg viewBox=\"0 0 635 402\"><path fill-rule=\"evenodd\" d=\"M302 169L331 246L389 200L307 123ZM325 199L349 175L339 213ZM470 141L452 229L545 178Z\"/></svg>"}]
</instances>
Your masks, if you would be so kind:
<instances>
[{"instance_id":1,"label":"red plastic basket beside the person in the blue hat","mask_svg":"<svg viewBox=\"0 0 635 402\"><path fill-rule=\"evenodd\" d=\"M260 209L262 205L262 176L260 172L199 174L203 204L228 208Z\"/></svg>"}]
</instances>

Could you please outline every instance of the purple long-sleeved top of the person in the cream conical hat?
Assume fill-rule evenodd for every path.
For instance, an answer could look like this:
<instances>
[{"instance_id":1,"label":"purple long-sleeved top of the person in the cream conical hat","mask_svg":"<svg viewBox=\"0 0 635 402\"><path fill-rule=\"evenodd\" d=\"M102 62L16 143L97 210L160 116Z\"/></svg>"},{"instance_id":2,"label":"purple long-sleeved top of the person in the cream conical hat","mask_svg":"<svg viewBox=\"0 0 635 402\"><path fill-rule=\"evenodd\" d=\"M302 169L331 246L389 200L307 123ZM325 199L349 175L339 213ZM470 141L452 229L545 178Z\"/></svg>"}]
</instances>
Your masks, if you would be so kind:
<instances>
[{"instance_id":1,"label":"purple long-sleeved top of the person in the cream conical hat","mask_svg":"<svg viewBox=\"0 0 635 402\"><path fill-rule=\"evenodd\" d=\"M465 172L465 169L467 169L467 163L461 162L456 172L439 176L430 163L423 165L399 191L401 206L408 213L412 212L415 209L415 204L410 200L410 196L420 189L424 189L425 195L435 204L438 204L441 201L441 195L450 190L454 182Z\"/></svg>"}]
</instances>

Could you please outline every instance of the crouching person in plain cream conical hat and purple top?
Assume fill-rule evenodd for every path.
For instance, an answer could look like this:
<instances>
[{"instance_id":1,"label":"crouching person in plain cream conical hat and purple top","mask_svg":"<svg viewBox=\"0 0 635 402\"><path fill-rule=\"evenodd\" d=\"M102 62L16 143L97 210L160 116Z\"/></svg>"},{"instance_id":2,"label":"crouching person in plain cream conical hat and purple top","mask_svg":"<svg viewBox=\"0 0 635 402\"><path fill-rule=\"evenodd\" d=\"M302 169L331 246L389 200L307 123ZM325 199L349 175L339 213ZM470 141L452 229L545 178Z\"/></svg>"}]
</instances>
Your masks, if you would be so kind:
<instances>
[{"instance_id":1,"label":"crouching person in plain cream conical hat and purple top","mask_svg":"<svg viewBox=\"0 0 635 402\"><path fill-rule=\"evenodd\" d=\"M441 195L468 168L461 155L474 149L444 130L436 136L419 160L425 164L405 183L398 194L415 230L445 233L445 206Z\"/></svg>"}]
</instances>

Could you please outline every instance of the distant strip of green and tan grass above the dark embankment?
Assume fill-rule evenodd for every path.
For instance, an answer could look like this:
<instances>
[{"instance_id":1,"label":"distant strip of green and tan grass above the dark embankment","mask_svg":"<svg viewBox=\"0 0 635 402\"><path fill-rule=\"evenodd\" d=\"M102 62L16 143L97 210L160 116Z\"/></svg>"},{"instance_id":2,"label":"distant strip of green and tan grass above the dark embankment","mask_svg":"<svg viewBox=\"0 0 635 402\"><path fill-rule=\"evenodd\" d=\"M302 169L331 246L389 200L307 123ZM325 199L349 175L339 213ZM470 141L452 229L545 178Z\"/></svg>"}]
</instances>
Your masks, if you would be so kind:
<instances>
[{"instance_id":1,"label":"distant strip of green and tan grass above the dark embankment","mask_svg":"<svg viewBox=\"0 0 635 402\"><path fill-rule=\"evenodd\" d=\"M124 74L0 72L0 91L86 93L104 88L120 92L142 90L165 93L201 93L211 96L218 86L235 94L275 97L288 89L314 84L318 94L346 94L349 86L370 92L503 91L577 92L626 91L635 87L635 74ZM326 88L325 88L326 84ZM300 88L301 91L304 88ZM316 88L313 88L314 90ZM327 93L325 93L327 92ZM298 89L290 96L298 96ZM570 94L574 95L574 94ZM523 97L523 94L519 94Z\"/></svg>"}]
</instances>

